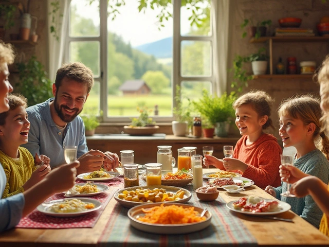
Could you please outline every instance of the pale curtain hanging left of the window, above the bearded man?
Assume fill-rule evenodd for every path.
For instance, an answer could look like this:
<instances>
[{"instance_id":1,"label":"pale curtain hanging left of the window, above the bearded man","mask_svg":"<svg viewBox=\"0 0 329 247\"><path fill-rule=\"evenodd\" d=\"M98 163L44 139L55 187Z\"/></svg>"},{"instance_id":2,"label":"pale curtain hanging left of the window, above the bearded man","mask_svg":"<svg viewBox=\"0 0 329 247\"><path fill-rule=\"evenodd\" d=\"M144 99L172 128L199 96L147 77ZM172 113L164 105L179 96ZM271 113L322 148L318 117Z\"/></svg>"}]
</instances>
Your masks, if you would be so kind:
<instances>
[{"instance_id":1,"label":"pale curtain hanging left of the window, above the bearded man","mask_svg":"<svg viewBox=\"0 0 329 247\"><path fill-rule=\"evenodd\" d=\"M55 0L48 0L48 13L52 11L51 3L57 2ZM50 33L50 27L52 23L52 14L48 14L48 57L49 57L49 78L53 82L56 78L57 69L62 66L64 59L64 47L65 47L65 38L67 32L66 27L68 24L68 7L69 0L60 0L59 2L59 11L56 12L57 20L57 35L59 40L53 37L53 34Z\"/></svg>"}]
</instances>

